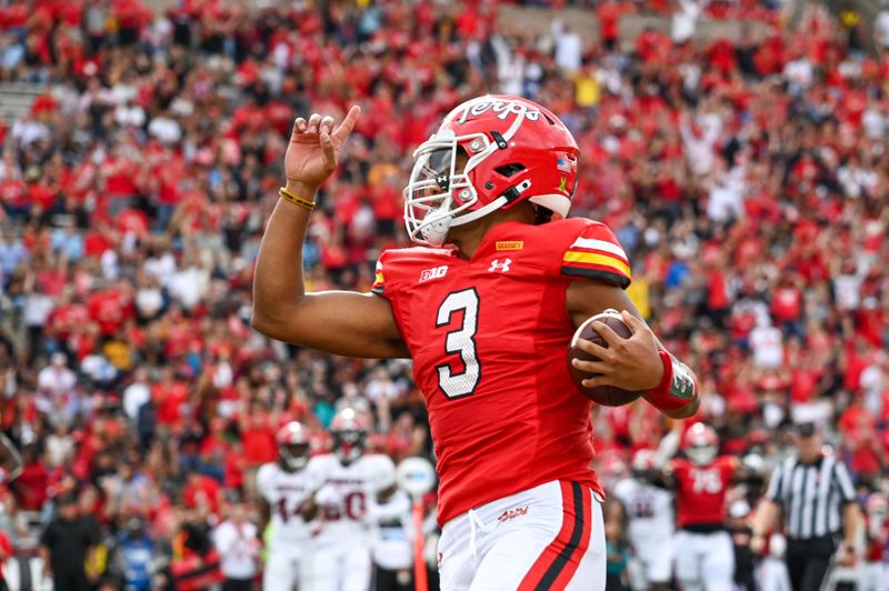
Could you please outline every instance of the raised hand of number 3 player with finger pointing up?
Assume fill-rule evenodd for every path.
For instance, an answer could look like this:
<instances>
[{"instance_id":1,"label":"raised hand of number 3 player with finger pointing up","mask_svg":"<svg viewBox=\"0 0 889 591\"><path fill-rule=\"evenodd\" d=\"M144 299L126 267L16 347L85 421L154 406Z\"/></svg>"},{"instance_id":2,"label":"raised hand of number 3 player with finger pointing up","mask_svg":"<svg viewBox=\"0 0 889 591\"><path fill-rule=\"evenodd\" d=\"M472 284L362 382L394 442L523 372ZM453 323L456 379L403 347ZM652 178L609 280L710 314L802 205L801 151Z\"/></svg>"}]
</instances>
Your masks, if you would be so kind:
<instances>
[{"instance_id":1,"label":"raised hand of number 3 player with finger pointing up","mask_svg":"<svg viewBox=\"0 0 889 591\"><path fill-rule=\"evenodd\" d=\"M318 113L307 121L299 117L284 154L287 189L298 197L311 199L314 192L337 169L340 150L352 132L361 108L349 109L346 119L333 129L333 118Z\"/></svg>"}]
</instances>

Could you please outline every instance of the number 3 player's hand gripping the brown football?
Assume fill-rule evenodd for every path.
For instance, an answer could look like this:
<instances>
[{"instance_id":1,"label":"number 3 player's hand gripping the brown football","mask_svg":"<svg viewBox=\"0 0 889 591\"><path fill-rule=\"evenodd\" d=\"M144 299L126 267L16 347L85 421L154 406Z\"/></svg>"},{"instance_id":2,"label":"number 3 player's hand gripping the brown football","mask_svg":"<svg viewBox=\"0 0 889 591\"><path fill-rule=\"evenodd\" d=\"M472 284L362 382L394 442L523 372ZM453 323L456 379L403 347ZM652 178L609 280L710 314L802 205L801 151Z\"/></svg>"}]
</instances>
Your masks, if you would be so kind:
<instances>
[{"instance_id":1,"label":"number 3 player's hand gripping the brown football","mask_svg":"<svg viewBox=\"0 0 889 591\"><path fill-rule=\"evenodd\" d=\"M627 310L621 312L621 318L632 330L632 337L621 339L603 322L593 322L592 329L605 339L608 348L579 339L578 347L599 358L599 361L575 359L572 363L577 369L591 374L583 380L587 388L615 385L632 392L651 390L663 377L658 340L645 322Z\"/></svg>"}]
</instances>

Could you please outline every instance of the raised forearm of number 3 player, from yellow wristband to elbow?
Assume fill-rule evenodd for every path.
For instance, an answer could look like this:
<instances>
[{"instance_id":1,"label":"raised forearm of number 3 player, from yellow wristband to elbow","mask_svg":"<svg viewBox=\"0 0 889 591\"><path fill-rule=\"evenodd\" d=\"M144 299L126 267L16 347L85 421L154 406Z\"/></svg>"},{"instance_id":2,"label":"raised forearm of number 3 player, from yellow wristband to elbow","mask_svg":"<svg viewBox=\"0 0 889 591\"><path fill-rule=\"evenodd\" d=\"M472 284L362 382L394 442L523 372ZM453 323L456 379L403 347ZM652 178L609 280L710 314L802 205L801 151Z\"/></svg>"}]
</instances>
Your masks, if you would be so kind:
<instances>
[{"instance_id":1,"label":"raised forearm of number 3 player, from yellow wristband to elbow","mask_svg":"<svg viewBox=\"0 0 889 591\"><path fill-rule=\"evenodd\" d=\"M288 190L313 200L311 188ZM309 210L279 199L259 247L253 276L253 327L273 333L304 296L302 243L309 226Z\"/></svg>"}]
</instances>

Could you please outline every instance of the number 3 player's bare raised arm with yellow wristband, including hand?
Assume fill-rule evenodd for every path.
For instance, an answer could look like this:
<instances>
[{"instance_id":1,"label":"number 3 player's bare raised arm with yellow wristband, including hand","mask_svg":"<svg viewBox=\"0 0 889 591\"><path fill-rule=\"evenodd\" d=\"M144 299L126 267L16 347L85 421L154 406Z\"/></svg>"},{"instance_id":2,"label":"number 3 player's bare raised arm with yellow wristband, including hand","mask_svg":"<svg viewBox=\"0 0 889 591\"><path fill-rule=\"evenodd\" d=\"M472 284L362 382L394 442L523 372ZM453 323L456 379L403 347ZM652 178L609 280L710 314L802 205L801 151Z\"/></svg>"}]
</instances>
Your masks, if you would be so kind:
<instances>
[{"instance_id":1,"label":"number 3 player's bare raised arm with yellow wristband, including hand","mask_svg":"<svg viewBox=\"0 0 889 591\"><path fill-rule=\"evenodd\" d=\"M361 110L296 120L284 156L287 184L269 219L253 278L253 328L280 341L371 358L409 357L390 303L370 293L306 293L302 243L318 188L337 168Z\"/></svg>"}]
</instances>

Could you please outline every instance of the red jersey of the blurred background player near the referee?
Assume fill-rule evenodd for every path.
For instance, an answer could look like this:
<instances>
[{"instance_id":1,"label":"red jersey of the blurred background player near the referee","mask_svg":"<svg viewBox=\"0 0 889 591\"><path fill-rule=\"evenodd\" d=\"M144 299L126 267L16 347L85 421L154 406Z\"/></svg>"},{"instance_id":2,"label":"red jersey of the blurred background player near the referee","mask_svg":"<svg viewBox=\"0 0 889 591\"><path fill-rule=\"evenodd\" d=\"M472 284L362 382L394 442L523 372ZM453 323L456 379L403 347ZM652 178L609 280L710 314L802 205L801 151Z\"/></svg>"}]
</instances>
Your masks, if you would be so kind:
<instances>
[{"instance_id":1,"label":"red jersey of the blurred background player near the referee","mask_svg":"<svg viewBox=\"0 0 889 591\"><path fill-rule=\"evenodd\" d=\"M726 521L726 492L735 475L737 460L720 455L707 465L690 460L673 460L677 494L677 524L721 525Z\"/></svg>"}]
</instances>

